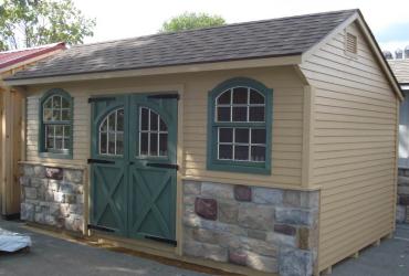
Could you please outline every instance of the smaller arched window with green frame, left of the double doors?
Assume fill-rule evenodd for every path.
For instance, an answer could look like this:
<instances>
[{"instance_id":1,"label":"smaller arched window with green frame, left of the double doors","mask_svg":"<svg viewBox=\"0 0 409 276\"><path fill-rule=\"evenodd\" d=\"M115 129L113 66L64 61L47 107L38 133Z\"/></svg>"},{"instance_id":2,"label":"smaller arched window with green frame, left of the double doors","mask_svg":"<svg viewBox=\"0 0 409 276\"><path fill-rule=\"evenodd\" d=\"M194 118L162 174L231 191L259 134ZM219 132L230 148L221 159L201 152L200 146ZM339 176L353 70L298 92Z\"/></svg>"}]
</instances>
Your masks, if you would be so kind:
<instances>
[{"instance_id":1,"label":"smaller arched window with green frame, left of the double doors","mask_svg":"<svg viewBox=\"0 0 409 276\"><path fill-rule=\"evenodd\" d=\"M51 89L40 100L40 155L72 157L73 106L70 94Z\"/></svg>"}]
</instances>

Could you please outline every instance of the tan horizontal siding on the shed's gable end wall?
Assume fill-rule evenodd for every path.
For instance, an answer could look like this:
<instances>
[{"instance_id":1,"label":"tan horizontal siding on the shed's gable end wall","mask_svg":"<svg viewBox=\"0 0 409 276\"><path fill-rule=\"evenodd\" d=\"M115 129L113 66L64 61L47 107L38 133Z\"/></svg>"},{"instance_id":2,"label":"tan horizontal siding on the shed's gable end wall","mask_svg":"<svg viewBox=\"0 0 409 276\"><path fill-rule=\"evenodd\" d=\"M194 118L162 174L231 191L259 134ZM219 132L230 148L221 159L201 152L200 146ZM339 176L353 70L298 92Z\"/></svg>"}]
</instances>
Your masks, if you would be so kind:
<instances>
[{"instance_id":1,"label":"tan horizontal siding on the shed's gable end wall","mask_svg":"<svg viewBox=\"0 0 409 276\"><path fill-rule=\"evenodd\" d=\"M323 270L394 229L397 97L360 30L355 57L345 32L302 65L315 89L312 184L322 188Z\"/></svg>"}]
</instances>

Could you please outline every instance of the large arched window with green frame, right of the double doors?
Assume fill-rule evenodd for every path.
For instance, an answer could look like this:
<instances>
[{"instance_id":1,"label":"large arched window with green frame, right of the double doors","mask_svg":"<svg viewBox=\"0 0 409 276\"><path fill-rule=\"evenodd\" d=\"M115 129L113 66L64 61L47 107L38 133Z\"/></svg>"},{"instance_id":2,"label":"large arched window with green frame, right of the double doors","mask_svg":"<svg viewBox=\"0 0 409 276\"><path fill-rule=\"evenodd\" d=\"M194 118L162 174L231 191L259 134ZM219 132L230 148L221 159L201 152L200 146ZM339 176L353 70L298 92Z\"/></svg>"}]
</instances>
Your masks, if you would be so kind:
<instances>
[{"instance_id":1,"label":"large arched window with green frame, right of the double doors","mask_svg":"<svg viewBox=\"0 0 409 276\"><path fill-rule=\"evenodd\" d=\"M208 169L270 173L272 89L229 79L209 95Z\"/></svg>"}]
</instances>

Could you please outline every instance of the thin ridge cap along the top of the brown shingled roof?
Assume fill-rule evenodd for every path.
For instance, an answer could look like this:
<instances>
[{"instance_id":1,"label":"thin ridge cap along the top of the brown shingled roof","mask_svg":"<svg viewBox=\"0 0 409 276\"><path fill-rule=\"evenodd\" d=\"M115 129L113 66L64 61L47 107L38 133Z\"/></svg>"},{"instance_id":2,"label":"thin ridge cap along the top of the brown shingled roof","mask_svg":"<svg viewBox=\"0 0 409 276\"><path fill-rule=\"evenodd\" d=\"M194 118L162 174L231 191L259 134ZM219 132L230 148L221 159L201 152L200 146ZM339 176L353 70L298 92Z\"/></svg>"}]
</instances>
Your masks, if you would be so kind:
<instances>
[{"instance_id":1,"label":"thin ridge cap along the top of the brown shingled roof","mask_svg":"<svg viewBox=\"0 0 409 276\"><path fill-rule=\"evenodd\" d=\"M305 13L305 14L289 15L289 17L273 18L273 19L252 20L252 21L229 23L229 24L226 24L226 25L218 25L218 26L207 26L207 28L198 28L198 29L193 29L193 30L182 30L182 31L176 31L176 32L153 33L153 34L146 34L146 35L140 35L140 36L132 36L132 38L125 38L125 39L107 40L107 41L101 41L101 42L93 42L93 43L73 45L72 47L81 47L81 46L88 46L88 45L90 46L91 45L101 45L101 44L111 44L111 43L116 43L116 42L125 42L125 41L128 41L128 40L130 41L130 40L139 40L139 39L149 39L149 38L154 38L154 36L175 35L175 34L189 33L189 32L200 32L200 31L213 30L213 29L224 29L224 28L235 26L235 25L256 24L256 23L269 22L269 21L279 21L279 20L284 20L284 19L296 19L296 18L304 18L304 17L323 15L323 14L334 14L334 13L342 13L342 12L356 12L356 11L359 11L359 9L346 9L346 10L336 10L336 11L324 11L324 12Z\"/></svg>"}]
</instances>

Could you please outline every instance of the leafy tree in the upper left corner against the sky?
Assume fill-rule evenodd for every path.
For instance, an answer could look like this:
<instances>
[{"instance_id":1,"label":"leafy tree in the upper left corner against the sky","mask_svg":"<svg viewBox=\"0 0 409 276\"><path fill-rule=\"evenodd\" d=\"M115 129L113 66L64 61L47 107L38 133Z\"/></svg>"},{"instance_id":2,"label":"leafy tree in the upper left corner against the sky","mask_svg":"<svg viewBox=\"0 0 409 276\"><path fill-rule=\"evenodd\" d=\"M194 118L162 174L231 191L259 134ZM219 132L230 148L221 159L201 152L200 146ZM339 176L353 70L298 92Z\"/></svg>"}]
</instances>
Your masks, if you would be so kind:
<instances>
[{"instance_id":1,"label":"leafy tree in the upper left corner against the sky","mask_svg":"<svg viewBox=\"0 0 409 276\"><path fill-rule=\"evenodd\" d=\"M85 18L72 0L2 0L0 50L78 44L94 35L94 26L95 19Z\"/></svg>"}]
</instances>

